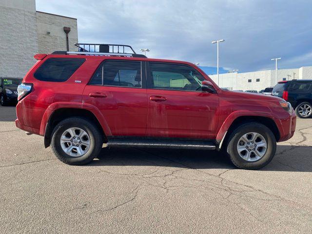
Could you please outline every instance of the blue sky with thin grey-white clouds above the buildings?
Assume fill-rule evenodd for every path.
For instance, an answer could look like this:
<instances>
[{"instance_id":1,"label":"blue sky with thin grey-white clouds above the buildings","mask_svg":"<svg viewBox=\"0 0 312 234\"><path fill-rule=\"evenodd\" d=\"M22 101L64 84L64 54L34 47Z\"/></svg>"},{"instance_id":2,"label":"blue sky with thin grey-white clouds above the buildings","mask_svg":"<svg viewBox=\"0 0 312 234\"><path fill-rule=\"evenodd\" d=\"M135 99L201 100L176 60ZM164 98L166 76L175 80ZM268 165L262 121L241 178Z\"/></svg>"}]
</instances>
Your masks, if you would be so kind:
<instances>
[{"instance_id":1,"label":"blue sky with thin grey-white clouds above the buildings","mask_svg":"<svg viewBox=\"0 0 312 234\"><path fill-rule=\"evenodd\" d=\"M312 66L312 0L36 0L38 11L78 19L80 43L129 44L149 58L220 73Z\"/></svg>"}]
</instances>

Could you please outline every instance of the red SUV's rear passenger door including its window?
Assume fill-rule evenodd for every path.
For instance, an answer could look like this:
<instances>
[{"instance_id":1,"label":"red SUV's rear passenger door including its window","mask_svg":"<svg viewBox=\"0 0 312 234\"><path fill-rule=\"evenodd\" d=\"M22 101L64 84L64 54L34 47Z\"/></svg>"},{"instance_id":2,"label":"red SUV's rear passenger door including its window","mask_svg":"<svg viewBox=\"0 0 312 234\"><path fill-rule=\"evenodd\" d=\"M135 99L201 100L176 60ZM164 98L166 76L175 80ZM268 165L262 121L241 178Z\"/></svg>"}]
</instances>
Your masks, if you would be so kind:
<instances>
[{"instance_id":1,"label":"red SUV's rear passenger door including its window","mask_svg":"<svg viewBox=\"0 0 312 234\"><path fill-rule=\"evenodd\" d=\"M96 106L113 136L145 136L147 93L139 60L105 60L83 92L83 102Z\"/></svg>"}]
</instances>

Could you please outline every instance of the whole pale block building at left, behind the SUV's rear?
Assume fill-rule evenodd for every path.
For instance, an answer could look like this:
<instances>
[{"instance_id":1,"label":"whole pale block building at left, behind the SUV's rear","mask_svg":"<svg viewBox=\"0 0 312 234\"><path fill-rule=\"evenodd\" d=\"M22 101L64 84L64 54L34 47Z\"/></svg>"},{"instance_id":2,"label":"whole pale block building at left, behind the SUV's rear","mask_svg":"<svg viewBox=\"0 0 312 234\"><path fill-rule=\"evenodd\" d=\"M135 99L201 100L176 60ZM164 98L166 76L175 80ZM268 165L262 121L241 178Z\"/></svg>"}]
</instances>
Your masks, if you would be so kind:
<instances>
[{"instance_id":1,"label":"whole pale block building at left, behind the SUV's rear","mask_svg":"<svg viewBox=\"0 0 312 234\"><path fill-rule=\"evenodd\" d=\"M77 50L77 19L36 11L35 0L0 0L0 77L24 77L35 54Z\"/></svg>"}]
</instances>

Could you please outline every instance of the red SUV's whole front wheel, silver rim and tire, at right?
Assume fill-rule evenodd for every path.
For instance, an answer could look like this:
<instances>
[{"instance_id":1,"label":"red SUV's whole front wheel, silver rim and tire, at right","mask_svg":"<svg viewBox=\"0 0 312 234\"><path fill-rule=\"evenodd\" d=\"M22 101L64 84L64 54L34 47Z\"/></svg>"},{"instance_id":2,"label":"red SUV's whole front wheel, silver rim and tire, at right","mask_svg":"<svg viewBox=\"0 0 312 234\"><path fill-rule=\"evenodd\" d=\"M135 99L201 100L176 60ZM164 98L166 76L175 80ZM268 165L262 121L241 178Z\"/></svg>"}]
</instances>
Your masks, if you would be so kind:
<instances>
[{"instance_id":1,"label":"red SUV's whole front wheel, silver rim and tire, at right","mask_svg":"<svg viewBox=\"0 0 312 234\"><path fill-rule=\"evenodd\" d=\"M259 169L266 166L276 152L276 139L263 124L250 122L237 127L229 137L227 153L238 168Z\"/></svg>"}]
</instances>

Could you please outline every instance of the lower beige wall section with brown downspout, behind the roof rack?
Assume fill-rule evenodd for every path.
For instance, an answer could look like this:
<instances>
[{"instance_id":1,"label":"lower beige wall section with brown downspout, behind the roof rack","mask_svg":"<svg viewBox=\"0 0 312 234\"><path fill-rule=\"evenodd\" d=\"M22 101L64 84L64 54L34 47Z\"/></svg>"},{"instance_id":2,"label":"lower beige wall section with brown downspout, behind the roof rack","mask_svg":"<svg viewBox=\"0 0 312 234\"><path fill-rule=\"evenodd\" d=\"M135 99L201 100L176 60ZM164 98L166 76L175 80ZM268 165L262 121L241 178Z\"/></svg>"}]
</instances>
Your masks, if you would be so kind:
<instances>
[{"instance_id":1,"label":"lower beige wall section with brown downspout, behind the roof rack","mask_svg":"<svg viewBox=\"0 0 312 234\"><path fill-rule=\"evenodd\" d=\"M45 12L36 12L38 45L40 54L50 54L54 51L66 51L66 34L63 27L70 27L68 34L69 50L77 51L74 45L78 43L77 19ZM50 34L48 34L50 32Z\"/></svg>"}]
</instances>

